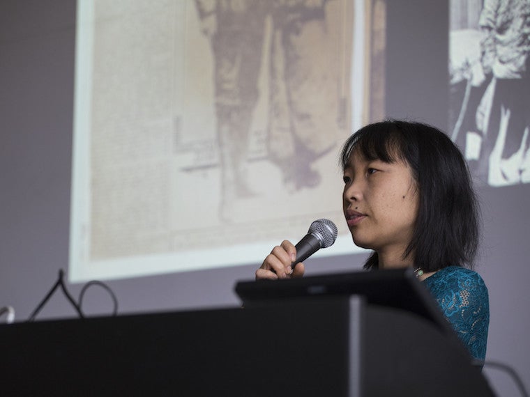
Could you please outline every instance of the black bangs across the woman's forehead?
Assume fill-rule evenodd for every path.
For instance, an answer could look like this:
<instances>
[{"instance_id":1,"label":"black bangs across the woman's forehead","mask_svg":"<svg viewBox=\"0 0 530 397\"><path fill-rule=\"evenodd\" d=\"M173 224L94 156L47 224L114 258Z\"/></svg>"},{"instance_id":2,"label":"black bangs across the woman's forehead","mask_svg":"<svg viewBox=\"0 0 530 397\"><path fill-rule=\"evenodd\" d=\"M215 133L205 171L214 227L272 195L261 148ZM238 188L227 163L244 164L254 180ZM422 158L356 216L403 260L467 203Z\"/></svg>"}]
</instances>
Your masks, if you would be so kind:
<instances>
[{"instance_id":1,"label":"black bangs across the woman's forehead","mask_svg":"<svg viewBox=\"0 0 530 397\"><path fill-rule=\"evenodd\" d=\"M349 164L351 153L358 150L365 159L379 159L386 163L405 160L405 139L397 128L388 123L375 123L361 128L351 135L342 148L340 162L342 169Z\"/></svg>"}]
</instances>

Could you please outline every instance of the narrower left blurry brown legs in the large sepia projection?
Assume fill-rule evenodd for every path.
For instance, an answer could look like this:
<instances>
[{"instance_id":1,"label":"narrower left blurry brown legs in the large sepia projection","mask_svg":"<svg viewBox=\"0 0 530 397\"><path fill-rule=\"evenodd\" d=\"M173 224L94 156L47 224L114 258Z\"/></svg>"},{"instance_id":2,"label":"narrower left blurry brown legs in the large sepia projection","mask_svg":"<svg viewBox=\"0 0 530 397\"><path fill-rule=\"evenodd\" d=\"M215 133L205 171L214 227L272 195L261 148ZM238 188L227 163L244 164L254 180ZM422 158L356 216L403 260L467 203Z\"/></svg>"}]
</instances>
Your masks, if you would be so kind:
<instances>
[{"instance_id":1,"label":"narrower left blurry brown legs in the large sepia projection","mask_svg":"<svg viewBox=\"0 0 530 397\"><path fill-rule=\"evenodd\" d=\"M220 216L232 218L237 198L255 196L247 161L258 99L266 2L197 0L201 30L213 55L216 132L220 153Z\"/></svg>"}]
</instances>

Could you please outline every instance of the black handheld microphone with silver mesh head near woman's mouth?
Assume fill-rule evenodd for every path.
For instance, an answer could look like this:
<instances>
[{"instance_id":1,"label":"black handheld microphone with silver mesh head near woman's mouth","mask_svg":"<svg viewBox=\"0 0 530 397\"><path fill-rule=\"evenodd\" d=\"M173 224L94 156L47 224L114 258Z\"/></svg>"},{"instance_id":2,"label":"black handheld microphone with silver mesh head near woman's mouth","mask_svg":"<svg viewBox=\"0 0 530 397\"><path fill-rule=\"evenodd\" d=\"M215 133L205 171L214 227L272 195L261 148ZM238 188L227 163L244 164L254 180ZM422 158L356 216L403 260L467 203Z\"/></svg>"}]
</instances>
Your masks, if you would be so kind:
<instances>
[{"instance_id":1,"label":"black handheld microphone with silver mesh head near woman's mouth","mask_svg":"<svg viewBox=\"0 0 530 397\"><path fill-rule=\"evenodd\" d=\"M291 264L291 268L315 254L319 249L331 247L337 239L337 233L337 226L329 219L314 221L309 226L308 234L294 246L296 247L296 260Z\"/></svg>"}]
</instances>

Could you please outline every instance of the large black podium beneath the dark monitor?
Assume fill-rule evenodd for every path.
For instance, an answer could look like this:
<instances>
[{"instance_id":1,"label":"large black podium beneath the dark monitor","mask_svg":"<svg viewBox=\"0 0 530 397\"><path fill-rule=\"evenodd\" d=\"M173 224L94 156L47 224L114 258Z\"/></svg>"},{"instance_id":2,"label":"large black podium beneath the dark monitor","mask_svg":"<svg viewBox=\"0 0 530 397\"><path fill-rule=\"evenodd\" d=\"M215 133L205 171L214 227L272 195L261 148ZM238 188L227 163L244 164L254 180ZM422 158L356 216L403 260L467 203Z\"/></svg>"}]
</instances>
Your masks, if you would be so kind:
<instances>
[{"instance_id":1,"label":"large black podium beneath the dark monitor","mask_svg":"<svg viewBox=\"0 0 530 397\"><path fill-rule=\"evenodd\" d=\"M464 348L362 295L0 326L2 396L492 396Z\"/></svg>"}]
</instances>

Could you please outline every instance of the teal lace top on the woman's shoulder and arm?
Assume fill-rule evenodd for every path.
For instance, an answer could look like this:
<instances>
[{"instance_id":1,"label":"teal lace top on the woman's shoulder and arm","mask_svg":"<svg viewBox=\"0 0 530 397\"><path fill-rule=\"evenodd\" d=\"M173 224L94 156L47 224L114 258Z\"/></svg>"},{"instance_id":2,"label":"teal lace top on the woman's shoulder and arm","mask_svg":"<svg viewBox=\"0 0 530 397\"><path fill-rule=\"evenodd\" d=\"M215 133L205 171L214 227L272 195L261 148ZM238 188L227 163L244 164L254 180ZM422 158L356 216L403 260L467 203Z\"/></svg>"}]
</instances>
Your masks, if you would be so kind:
<instances>
[{"instance_id":1,"label":"teal lace top on the woman's shoulder and arm","mask_svg":"<svg viewBox=\"0 0 530 397\"><path fill-rule=\"evenodd\" d=\"M490 303L483 279L473 270L449 266L427 277L423 285L430 290L471 356L484 361Z\"/></svg>"}]
</instances>

